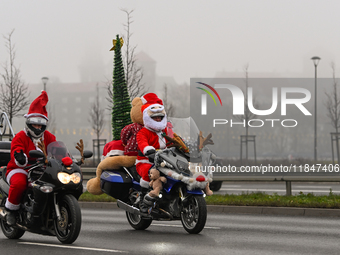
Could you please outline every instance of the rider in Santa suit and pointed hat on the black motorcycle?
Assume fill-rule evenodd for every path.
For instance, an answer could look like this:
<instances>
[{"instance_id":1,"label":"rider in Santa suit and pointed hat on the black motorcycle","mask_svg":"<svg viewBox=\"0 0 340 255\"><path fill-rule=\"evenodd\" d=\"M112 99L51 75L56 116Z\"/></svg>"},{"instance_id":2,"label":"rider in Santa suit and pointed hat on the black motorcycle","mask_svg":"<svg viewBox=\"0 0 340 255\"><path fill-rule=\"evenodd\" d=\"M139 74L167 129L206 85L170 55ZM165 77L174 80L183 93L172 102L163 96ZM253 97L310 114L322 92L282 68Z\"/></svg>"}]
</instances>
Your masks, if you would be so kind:
<instances>
[{"instance_id":1,"label":"rider in Santa suit and pointed hat on the black motorcycle","mask_svg":"<svg viewBox=\"0 0 340 255\"><path fill-rule=\"evenodd\" d=\"M43 140L45 149L55 142L56 137L46 130L48 117L46 104L48 96L45 91L31 103L26 118L25 128L17 133L11 142L11 159L7 165L6 180L10 184L8 198L5 203L6 221L15 225L21 198L27 187L27 170L24 167L34 162L29 151L40 150L39 140Z\"/></svg>"}]
</instances>

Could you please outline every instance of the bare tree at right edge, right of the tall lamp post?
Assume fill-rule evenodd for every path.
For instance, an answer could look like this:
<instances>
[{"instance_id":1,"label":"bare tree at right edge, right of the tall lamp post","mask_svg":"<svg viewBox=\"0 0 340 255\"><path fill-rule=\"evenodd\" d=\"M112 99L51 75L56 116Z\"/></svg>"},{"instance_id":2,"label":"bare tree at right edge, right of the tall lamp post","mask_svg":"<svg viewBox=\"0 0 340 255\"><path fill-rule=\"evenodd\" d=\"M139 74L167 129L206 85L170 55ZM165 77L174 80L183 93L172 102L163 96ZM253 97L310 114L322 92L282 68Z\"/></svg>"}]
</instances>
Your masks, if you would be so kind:
<instances>
[{"instance_id":1,"label":"bare tree at right edge, right of the tall lamp post","mask_svg":"<svg viewBox=\"0 0 340 255\"><path fill-rule=\"evenodd\" d=\"M338 94L338 81L335 78L335 64L331 63L332 73L333 73L333 89L330 93L325 92L327 101L325 106L327 108L327 116L331 120L331 125L338 133L340 127L340 95ZM338 162L340 162L340 152L339 152L339 139L336 136L336 151Z\"/></svg>"}]
</instances>

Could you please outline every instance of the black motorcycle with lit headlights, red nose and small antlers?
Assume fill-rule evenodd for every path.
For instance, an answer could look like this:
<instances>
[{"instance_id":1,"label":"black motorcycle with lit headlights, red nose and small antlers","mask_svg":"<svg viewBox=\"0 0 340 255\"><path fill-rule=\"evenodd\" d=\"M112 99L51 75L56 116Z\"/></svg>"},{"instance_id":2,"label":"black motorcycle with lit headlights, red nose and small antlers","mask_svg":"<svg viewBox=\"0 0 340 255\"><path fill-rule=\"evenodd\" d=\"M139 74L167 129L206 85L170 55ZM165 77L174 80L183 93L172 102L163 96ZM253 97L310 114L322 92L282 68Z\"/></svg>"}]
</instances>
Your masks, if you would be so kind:
<instances>
[{"instance_id":1,"label":"black motorcycle with lit headlights, red nose and small antlers","mask_svg":"<svg viewBox=\"0 0 340 255\"><path fill-rule=\"evenodd\" d=\"M81 211L78 199L83 193L80 165L84 158L92 157L92 152L82 151L82 160L72 158L63 142L53 142L47 146L46 154L33 150L30 157L37 158L28 169L28 188L18 211L17 223L6 223L4 206L8 197L9 184L6 168L0 178L0 225L9 239L20 238L25 231L36 234L57 236L65 244L73 243L81 228Z\"/></svg>"}]
</instances>

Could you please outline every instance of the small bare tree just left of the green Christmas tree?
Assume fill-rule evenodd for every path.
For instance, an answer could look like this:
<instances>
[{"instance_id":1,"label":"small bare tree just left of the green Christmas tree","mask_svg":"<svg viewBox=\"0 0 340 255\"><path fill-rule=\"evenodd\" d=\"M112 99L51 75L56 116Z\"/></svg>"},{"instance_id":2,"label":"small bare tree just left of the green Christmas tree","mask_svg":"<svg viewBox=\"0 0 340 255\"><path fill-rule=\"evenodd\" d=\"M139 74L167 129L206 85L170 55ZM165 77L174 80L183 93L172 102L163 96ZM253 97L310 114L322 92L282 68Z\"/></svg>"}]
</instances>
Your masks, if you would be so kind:
<instances>
[{"instance_id":1,"label":"small bare tree just left of the green Christmas tree","mask_svg":"<svg viewBox=\"0 0 340 255\"><path fill-rule=\"evenodd\" d=\"M100 106L98 84L96 85L96 90L97 90L96 99L91 104L90 116L88 121L91 123L91 127L94 130L97 137L97 156L99 163L100 161L99 137L103 133L105 121L104 121L104 109L102 109Z\"/></svg>"}]
</instances>

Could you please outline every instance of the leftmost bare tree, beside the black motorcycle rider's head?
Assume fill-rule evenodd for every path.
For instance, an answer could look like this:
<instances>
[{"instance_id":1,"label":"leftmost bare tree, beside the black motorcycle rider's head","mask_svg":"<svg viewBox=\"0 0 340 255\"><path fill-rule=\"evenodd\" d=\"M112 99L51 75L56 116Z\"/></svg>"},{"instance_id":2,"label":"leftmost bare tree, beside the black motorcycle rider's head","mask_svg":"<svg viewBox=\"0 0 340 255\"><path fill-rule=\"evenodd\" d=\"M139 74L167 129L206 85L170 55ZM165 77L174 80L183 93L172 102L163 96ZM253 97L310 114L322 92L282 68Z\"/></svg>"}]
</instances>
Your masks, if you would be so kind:
<instances>
[{"instance_id":1,"label":"leftmost bare tree, beside the black motorcycle rider's head","mask_svg":"<svg viewBox=\"0 0 340 255\"><path fill-rule=\"evenodd\" d=\"M0 109L9 116L9 121L18 116L22 110L29 106L28 87L21 80L20 69L15 66L15 45L12 43L14 29L5 38L5 46L9 54L9 62L3 65L4 73L1 74Z\"/></svg>"}]
</instances>

